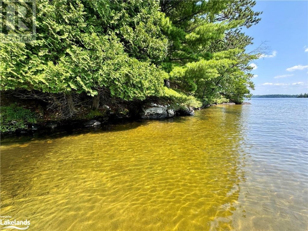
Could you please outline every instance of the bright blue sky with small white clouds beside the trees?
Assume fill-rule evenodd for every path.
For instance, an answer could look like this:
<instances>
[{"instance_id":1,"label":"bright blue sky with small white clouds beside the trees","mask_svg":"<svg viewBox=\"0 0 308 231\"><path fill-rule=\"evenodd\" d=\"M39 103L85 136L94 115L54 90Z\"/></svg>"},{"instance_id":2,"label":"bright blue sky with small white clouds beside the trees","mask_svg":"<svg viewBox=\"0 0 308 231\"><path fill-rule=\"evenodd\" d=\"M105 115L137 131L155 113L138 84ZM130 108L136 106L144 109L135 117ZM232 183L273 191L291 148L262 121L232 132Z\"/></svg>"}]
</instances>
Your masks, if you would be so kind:
<instances>
[{"instance_id":1,"label":"bright blue sky with small white clouds beside the trees","mask_svg":"<svg viewBox=\"0 0 308 231\"><path fill-rule=\"evenodd\" d=\"M254 38L247 51L262 42L270 47L252 65L254 95L308 92L308 1L257 1L261 21L245 33Z\"/></svg>"}]
</instances>

